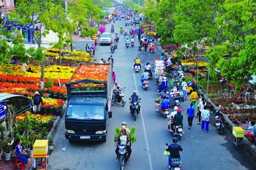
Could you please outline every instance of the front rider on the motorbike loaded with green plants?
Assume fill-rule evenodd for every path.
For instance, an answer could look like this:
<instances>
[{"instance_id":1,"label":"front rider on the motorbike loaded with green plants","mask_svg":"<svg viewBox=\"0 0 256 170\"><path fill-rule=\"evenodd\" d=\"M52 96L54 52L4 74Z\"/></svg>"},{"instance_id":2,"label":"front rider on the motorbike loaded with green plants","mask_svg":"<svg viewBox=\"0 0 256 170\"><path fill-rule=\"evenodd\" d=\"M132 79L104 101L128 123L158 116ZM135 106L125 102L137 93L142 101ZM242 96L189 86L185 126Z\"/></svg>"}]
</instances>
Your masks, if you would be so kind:
<instances>
[{"instance_id":1,"label":"front rider on the motorbike loaded with green plants","mask_svg":"<svg viewBox=\"0 0 256 170\"><path fill-rule=\"evenodd\" d=\"M121 133L118 134L117 136L117 141L115 142L115 146L117 147L118 144L122 143L122 142L126 142L126 149L127 149L127 153L128 153L128 157L127 157L127 160L130 161L130 156L131 156L131 153L132 153L132 149L130 147L130 136L129 134L126 133L126 129L123 128L121 129ZM118 147L115 149L115 154L117 155L117 158L115 159L118 159Z\"/></svg>"}]
</instances>

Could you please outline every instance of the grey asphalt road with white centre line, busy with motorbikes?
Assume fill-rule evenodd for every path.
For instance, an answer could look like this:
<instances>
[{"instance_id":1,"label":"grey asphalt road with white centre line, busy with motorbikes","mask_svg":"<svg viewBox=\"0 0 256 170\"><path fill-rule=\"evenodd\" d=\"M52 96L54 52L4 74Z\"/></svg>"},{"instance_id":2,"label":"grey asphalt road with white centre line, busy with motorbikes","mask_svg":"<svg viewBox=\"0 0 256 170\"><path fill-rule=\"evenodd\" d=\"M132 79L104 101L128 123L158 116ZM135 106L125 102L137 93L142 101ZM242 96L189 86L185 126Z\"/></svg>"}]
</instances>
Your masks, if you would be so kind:
<instances>
[{"instance_id":1,"label":"grey asphalt road with white centre line, busy with motorbikes","mask_svg":"<svg viewBox=\"0 0 256 170\"><path fill-rule=\"evenodd\" d=\"M115 23L115 29L124 24L124 21ZM110 25L107 26L110 31ZM87 41L90 44L93 41ZM84 41L74 42L77 49L84 49ZM113 54L114 70L117 73L117 81L121 86L126 87L125 101L132 94L133 90L138 91L142 98L142 114L137 121L133 121L129 114L129 104L123 108L120 104L112 106L113 117L108 127L107 142L78 142L69 143L64 137L64 119L60 121L57 129L56 148L50 156L50 166L52 169L118 169L118 161L115 160L114 153L114 129L121 122L127 122L128 127L136 126L137 142L132 144L131 161L127 162L124 169L136 170L159 170L167 169L168 159L163 157L165 143L171 143L172 135L167 131L167 119L164 119L155 112L154 99L157 97L154 80L149 81L148 91L141 87L140 73L133 73L133 60L139 53L142 63L158 58L160 52L141 53L137 51L138 42L135 47L125 48L125 36L120 36L118 49ZM106 59L111 55L109 46L98 46L96 59ZM141 72L142 73L142 72ZM254 169L255 159L242 147L234 147L230 131L225 130L225 134L220 136L216 133L215 127L210 124L210 133L206 134L200 130L197 120L194 120L191 130L187 130L185 111L188 102L181 104L184 115L185 135L179 144L184 148L181 153L184 169ZM65 150L63 150L65 148Z\"/></svg>"}]
</instances>

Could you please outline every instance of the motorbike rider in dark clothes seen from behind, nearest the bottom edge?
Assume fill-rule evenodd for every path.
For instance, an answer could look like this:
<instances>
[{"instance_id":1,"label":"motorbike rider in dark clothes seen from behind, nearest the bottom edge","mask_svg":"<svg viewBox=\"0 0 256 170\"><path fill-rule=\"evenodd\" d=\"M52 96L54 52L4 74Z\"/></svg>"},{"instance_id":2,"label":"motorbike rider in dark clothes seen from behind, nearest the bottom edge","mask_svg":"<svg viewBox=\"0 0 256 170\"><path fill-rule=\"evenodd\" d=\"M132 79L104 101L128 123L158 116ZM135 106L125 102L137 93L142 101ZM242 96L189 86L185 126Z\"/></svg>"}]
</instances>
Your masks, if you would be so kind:
<instances>
[{"instance_id":1,"label":"motorbike rider in dark clothes seen from behind, nearest the bottom edge","mask_svg":"<svg viewBox=\"0 0 256 170\"><path fill-rule=\"evenodd\" d=\"M168 169L172 166L172 159L181 159L180 158L180 151L183 149L178 143L178 138L173 138L173 143L166 148L166 151L170 152L169 159L168 159Z\"/></svg>"}]
</instances>

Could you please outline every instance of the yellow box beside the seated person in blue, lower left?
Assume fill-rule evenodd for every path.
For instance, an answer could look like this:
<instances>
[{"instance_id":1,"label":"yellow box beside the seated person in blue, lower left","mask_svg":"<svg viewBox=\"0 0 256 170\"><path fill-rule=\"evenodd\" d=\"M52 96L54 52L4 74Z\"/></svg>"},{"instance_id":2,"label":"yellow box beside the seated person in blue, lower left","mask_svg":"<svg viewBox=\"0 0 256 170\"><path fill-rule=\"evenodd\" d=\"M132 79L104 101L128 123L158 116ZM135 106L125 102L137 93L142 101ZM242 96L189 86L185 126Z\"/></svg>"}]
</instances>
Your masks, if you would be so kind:
<instances>
[{"instance_id":1,"label":"yellow box beside the seated person in blue, lower left","mask_svg":"<svg viewBox=\"0 0 256 170\"><path fill-rule=\"evenodd\" d=\"M33 145L33 157L43 158L48 154L48 140L36 140Z\"/></svg>"}]
</instances>

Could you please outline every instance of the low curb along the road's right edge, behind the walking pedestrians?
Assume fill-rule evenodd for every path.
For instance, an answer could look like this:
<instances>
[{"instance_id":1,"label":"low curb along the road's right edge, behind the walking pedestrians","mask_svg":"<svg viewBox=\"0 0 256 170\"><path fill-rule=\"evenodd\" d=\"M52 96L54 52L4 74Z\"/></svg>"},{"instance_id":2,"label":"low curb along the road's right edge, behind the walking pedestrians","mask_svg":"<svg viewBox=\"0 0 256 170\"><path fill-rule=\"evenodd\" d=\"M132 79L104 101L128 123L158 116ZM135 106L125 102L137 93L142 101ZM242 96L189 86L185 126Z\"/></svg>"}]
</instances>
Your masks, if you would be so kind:
<instances>
[{"instance_id":1,"label":"low curb along the road's right edge, behind the walking pedestrians","mask_svg":"<svg viewBox=\"0 0 256 170\"><path fill-rule=\"evenodd\" d=\"M200 90L200 89L198 89L198 92L203 93L202 90ZM211 104L212 106L214 106L214 109L215 109L215 110L218 110L218 107L217 107L205 94L204 94L204 98L205 98L206 101L210 102L210 104ZM221 113L222 113L222 112L221 112ZM223 113L222 113L222 115L223 115L225 121L228 122L230 128L236 127L236 125L235 125L233 122L230 121L230 119L228 118L227 115L225 115L225 114L223 114ZM256 156L256 146L255 146L254 144L252 144L252 143L248 140L248 138L246 138L246 137L243 137L243 143L245 144L245 146L246 146L249 150L251 150L251 153L252 153L254 156Z\"/></svg>"}]
</instances>

